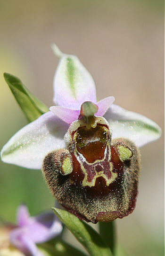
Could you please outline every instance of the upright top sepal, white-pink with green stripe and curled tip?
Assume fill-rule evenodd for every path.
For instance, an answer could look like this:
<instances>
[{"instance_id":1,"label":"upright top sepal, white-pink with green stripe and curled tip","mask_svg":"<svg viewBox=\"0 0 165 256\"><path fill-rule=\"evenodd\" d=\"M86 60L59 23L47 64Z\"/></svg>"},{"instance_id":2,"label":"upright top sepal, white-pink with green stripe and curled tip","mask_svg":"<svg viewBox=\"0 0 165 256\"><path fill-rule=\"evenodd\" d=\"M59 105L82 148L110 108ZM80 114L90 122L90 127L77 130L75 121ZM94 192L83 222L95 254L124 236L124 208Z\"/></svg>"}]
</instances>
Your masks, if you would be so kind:
<instances>
[{"instance_id":1,"label":"upright top sepal, white-pink with green stripe and curled tip","mask_svg":"<svg viewBox=\"0 0 165 256\"><path fill-rule=\"evenodd\" d=\"M96 103L96 88L91 74L76 56L61 53L55 46L54 53L60 60L53 81L54 103L76 110L84 101Z\"/></svg>"}]
</instances>

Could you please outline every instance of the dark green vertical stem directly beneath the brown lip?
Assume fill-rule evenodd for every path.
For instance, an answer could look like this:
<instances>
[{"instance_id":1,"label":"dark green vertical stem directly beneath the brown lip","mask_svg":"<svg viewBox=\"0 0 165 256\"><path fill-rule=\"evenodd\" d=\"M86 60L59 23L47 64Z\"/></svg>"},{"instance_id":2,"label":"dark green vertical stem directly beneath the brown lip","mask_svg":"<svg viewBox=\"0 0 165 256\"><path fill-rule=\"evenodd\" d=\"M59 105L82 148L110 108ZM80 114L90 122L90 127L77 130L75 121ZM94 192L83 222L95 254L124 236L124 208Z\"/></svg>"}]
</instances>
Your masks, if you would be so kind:
<instances>
[{"instance_id":1,"label":"dark green vertical stem directly beneath the brown lip","mask_svg":"<svg viewBox=\"0 0 165 256\"><path fill-rule=\"evenodd\" d=\"M103 241L110 247L115 255L115 221L99 222L99 233Z\"/></svg>"}]
</instances>

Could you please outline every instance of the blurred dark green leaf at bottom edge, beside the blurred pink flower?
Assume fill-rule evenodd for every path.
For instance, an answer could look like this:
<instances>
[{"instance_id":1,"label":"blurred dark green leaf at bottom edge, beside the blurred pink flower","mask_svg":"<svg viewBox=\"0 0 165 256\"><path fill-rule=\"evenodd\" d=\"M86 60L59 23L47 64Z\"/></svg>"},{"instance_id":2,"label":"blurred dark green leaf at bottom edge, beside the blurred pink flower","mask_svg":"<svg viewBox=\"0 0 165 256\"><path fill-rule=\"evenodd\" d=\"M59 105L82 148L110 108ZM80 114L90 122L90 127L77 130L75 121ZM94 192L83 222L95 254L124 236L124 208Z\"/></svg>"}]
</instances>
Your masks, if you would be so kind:
<instances>
[{"instance_id":1,"label":"blurred dark green leaf at bottom edge, beside the blurred pink flower","mask_svg":"<svg viewBox=\"0 0 165 256\"><path fill-rule=\"evenodd\" d=\"M39 244L38 247L46 256L87 256L59 238L50 240L47 243Z\"/></svg>"}]
</instances>

